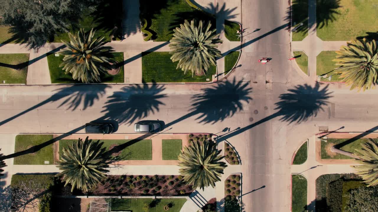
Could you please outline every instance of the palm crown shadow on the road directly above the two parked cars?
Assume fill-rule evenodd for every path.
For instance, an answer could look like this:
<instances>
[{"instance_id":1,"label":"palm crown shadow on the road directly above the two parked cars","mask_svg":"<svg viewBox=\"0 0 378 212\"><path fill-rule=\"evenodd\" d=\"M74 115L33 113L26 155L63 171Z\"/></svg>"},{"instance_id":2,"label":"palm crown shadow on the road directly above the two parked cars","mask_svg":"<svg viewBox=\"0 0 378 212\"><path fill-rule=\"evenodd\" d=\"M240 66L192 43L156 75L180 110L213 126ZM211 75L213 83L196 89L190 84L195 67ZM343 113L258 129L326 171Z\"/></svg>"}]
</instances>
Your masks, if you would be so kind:
<instances>
[{"instance_id":1,"label":"palm crown shadow on the road directly above the two parked cars","mask_svg":"<svg viewBox=\"0 0 378 212\"><path fill-rule=\"evenodd\" d=\"M158 112L159 106L165 105L159 100L167 96L161 94L164 90L164 86L158 84L125 86L108 97L104 110L101 111L105 112L102 118L130 125L150 113Z\"/></svg>"}]
</instances>

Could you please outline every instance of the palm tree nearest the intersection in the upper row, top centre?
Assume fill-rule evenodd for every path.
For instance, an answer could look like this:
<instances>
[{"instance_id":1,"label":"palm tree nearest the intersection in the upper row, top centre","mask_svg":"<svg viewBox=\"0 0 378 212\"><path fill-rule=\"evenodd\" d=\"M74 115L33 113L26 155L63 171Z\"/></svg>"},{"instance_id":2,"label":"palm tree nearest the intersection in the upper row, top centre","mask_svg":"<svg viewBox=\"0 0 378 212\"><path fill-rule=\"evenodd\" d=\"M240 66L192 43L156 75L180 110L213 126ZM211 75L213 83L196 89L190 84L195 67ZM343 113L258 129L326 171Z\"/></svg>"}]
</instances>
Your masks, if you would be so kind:
<instances>
[{"instance_id":1,"label":"palm tree nearest the intersection in the upper row, top centre","mask_svg":"<svg viewBox=\"0 0 378 212\"><path fill-rule=\"evenodd\" d=\"M181 68L184 74L188 70L194 74L206 74L210 65L215 66L215 57L222 57L220 51L217 49L217 43L222 43L222 40L215 34L216 29L210 30L210 21L206 26L203 26L200 20L198 27L195 19L189 22L185 20L184 24L180 24L180 28L174 29L173 38L169 41L169 52L172 54L170 59L175 62L179 61L177 68Z\"/></svg>"}]
</instances>

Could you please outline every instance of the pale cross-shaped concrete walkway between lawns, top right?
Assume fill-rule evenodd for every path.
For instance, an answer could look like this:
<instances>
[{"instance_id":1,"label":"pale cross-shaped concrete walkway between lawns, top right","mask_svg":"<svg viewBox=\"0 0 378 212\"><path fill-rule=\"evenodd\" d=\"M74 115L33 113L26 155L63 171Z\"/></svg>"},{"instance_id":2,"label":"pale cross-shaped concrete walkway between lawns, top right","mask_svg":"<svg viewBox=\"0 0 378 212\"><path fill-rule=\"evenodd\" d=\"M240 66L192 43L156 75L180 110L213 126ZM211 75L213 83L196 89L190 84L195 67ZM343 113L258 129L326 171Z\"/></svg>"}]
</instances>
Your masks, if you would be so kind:
<instances>
[{"instance_id":1,"label":"pale cross-shaped concrete walkway between lawns, top right","mask_svg":"<svg viewBox=\"0 0 378 212\"><path fill-rule=\"evenodd\" d=\"M304 51L308 57L308 75L318 80L316 56L322 51L338 51L347 41L322 41L316 36L316 0L308 0L308 35L302 41L291 41L291 51Z\"/></svg>"}]
</instances>

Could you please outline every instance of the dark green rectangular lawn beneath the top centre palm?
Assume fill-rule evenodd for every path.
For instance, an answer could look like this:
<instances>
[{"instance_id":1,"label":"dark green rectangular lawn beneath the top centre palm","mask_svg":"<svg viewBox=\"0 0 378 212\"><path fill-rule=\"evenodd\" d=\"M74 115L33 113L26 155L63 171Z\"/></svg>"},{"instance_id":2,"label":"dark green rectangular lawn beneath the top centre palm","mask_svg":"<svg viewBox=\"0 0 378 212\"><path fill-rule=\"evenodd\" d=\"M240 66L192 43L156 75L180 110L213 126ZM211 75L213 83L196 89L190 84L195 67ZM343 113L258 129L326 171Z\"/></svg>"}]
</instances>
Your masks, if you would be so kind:
<instances>
[{"instance_id":1,"label":"dark green rectangular lawn beneath the top centre palm","mask_svg":"<svg viewBox=\"0 0 378 212\"><path fill-rule=\"evenodd\" d=\"M192 72L176 69L178 61L170 60L172 55L169 52L142 52L142 81L143 83L168 83L168 82L209 82L212 75L216 73L215 66L208 69L206 75L192 77Z\"/></svg>"}]
</instances>

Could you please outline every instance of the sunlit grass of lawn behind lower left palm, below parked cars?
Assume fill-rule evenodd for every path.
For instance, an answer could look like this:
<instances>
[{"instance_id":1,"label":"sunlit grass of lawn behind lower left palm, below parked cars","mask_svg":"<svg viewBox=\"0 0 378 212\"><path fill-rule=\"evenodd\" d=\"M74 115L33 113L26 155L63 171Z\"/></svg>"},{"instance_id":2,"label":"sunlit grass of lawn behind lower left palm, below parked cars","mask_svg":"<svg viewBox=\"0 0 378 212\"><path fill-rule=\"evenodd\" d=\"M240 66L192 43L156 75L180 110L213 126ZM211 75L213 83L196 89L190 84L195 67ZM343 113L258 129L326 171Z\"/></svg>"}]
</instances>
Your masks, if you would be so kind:
<instances>
[{"instance_id":1,"label":"sunlit grass of lawn behind lower left palm, below parked cars","mask_svg":"<svg viewBox=\"0 0 378 212\"><path fill-rule=\"evenodd\" d=\"M59 153L62 152L63 147L67 147L68 144L72 144L75 140L60 140L59 141ZM97 141L97 140L94 140ZM124 144L131 140L101 140L104 142L102 145L109 149L111 146L117 146ZM140 140L121 151L118 155L118 160L152 160L152 140Z\"/></svg>"}]
</instances>

